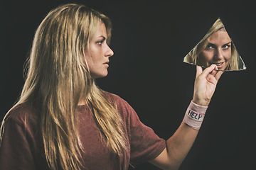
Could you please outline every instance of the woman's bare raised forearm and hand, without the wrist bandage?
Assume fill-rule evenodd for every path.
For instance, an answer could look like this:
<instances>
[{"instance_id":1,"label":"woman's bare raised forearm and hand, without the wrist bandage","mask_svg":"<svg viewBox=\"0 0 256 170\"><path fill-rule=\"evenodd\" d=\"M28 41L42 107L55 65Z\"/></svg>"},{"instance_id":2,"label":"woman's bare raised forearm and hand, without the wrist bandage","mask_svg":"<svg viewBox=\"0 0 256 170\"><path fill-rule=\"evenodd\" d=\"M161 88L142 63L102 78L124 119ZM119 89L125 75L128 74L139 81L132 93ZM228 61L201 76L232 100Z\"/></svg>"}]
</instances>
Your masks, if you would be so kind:
<instances>
[{"instance_id":1,"label":"woman's bare raised forearm and hand, without the wrist bandage","mask_svg":"<svg viewBox=\"0 0 256 170\"><path fill-rule=\"evenodd\" d=\"M204 71L202 67L196 67L196 80L194 86L193 103L208 106L213 96L218 79L223 72L212 65ZM178 169L185 159L193 142L196 140L198 130L194 130L185 123L181 123L178 130L166 141L166 149L156 159L149 161L161 169Z\"/></svg>"}]
</instances>

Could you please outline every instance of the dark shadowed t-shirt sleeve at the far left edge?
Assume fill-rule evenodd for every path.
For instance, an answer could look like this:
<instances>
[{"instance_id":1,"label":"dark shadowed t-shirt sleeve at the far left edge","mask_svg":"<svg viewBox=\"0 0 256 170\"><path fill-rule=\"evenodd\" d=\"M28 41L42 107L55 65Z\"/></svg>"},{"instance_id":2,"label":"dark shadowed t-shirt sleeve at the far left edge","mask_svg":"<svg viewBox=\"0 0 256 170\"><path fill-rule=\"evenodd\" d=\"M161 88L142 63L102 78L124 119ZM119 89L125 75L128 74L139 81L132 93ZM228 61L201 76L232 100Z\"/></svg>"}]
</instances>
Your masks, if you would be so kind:
<instances>
[{"instance_id":1,"label":"dark shadowed t-shirt sleeve at the far left edge","mask_svg":"<svg viewBox=\"0 0 256 170\"><path fill-rule=\"evenodd\" d=\"M36 169L28 136L28 131L24 131L21 125L14 120L6 120L0 145L0 169Z\"/></svg>"}]
</instances>

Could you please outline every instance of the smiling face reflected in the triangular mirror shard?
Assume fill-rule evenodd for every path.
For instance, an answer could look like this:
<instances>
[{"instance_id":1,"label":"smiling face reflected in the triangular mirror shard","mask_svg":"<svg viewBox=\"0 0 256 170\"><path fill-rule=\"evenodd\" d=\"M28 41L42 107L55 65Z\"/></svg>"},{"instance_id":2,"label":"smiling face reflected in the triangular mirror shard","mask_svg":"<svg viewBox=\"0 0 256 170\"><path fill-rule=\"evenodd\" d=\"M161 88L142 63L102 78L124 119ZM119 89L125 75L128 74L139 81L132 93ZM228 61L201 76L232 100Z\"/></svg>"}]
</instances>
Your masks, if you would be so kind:
<instances>
[{"instance_id":1,"label":"smiling face reflected in the triangular mirror shard","mask_svg":"<svg viewBox=\"0 0 256 170\"><path fill-rule=\"evenodd\" d=\"M225 30L220 30L210 36L206 48L200 53L198 62L204 67L216 64L219 70L224 70L231 57L231 40Z\"/></svg>"}]
</instances>

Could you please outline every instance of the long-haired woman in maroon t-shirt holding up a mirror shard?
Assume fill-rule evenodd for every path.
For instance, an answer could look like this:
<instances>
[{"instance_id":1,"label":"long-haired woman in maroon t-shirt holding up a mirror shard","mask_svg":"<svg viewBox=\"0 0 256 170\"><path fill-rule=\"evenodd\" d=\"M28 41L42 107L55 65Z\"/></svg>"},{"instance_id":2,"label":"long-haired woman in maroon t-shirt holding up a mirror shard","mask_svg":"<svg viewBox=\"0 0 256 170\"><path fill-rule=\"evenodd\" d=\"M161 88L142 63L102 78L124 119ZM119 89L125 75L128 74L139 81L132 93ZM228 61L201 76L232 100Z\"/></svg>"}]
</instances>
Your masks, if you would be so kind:
<instances>
[{"instance_id":1,"label":"long-haired woman in maroon t-shirt holding up a mirror shard","mask_svg":"<svg viewBox=\"0 0 256 170\"><path fill-rule=\"evenodd\" d=\"M0 169L178 169L193 145L221 72L197 67L193 100L164 141L119 96L102 91L111 23L86 6L48 13L36 31L21 97L1 126Z\"/></svg>"}]
</instances>

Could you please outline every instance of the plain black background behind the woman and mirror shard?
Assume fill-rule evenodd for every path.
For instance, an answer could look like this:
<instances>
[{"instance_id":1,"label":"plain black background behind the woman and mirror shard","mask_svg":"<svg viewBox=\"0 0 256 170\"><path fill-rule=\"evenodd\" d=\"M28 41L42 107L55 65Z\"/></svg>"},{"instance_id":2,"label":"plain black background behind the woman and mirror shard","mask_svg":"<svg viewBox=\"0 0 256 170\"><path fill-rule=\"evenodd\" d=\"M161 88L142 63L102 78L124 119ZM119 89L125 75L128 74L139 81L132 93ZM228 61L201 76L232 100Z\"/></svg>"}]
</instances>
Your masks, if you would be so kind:
<instances>
[{"instance_id":1,"label":"plain black background behind the woman and mirror shard","mask_svg":"<svg viewBox=\"0 0 256 170\"><path fill-rule=\"evenodd\" d=\"M124 98L139 118L168 139L193 97L196 67L183 57L220 17L247 70L225 72L195 144L180 169L254 169L255 3L249 1L1 2L1 118L23 86L23 63L50 9L76 2L112 19L109 75L97 84ZM156 169L143 164L137 169Z\"/></svg>"}]
</instances>

